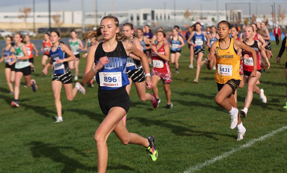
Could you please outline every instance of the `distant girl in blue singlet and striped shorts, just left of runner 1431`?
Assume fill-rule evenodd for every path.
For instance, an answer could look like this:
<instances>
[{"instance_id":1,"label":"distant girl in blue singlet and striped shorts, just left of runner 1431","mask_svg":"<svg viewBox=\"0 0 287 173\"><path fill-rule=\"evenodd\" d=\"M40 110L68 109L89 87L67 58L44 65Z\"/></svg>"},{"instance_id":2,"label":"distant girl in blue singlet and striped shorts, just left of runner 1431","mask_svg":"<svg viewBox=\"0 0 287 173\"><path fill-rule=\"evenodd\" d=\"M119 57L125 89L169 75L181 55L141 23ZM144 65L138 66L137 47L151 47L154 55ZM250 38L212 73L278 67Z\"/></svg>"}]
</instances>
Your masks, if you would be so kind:
<instances>
[{"instance_id":1,"label":"distant girl in blue singlet and striped shorts, just left of runner 1431","mask_svg":"<svg viewBox=\"0 0 287 173\"><path fill-rule=\"evenodd\" d=\"M193 80L194 83L198 83L198 78L199 78L199 73L200 73L200 68L203 64L207 62L205 59L204 61L202 60L202 57L204 55L204 37L207 38L207 45L209 45L209 37L207 37L207 33L204 31L201 31L202 27L200 23L195 24L195 31L191 33L189 38L187 39L187 43L191 44L194 48L194 54L196 58L196 77ZM192 39L192 41L191 41Z\"/></svg>"}]
</instances>

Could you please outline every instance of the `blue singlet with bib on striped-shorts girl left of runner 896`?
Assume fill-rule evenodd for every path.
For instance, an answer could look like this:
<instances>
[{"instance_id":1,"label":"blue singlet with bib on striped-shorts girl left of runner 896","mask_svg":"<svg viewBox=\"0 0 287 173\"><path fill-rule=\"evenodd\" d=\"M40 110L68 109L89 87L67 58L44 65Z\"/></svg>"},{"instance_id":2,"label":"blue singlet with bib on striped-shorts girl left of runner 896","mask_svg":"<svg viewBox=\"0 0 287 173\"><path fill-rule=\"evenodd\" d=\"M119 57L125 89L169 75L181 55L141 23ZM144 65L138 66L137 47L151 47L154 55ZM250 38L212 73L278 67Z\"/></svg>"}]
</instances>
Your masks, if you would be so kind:
<instances>
[{"instance_id":1,"label":"blue singlet with bib on striped-shorts girl left of runner 896","mask_svg":"<svg viewBox=\"0 0 287 173\"><path fill-rule=\"evenodd\" d=\"M53 60L54 74L65 74L69 70L68 62L57 63L57 59L67 58L67 54L61 49L61 43L59 44L55 52L50 49L50 56Z\"/></svg>"}]
</instances>

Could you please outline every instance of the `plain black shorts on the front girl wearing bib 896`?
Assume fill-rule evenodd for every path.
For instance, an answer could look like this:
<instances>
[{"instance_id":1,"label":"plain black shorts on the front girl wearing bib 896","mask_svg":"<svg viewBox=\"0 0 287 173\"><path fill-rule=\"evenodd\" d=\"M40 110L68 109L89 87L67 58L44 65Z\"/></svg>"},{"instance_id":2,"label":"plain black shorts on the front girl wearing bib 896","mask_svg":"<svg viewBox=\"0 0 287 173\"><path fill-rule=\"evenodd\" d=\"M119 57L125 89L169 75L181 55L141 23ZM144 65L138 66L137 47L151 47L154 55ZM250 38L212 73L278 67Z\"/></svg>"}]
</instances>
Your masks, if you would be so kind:
<instances>
[{"instance_id":1,"label":"plain black shorts on the front girl wearing bib 896","mask_svg":"<svg viewBox=\"0 0 287 173\"><path fill-rule=\"evenodd\" d=\"M99 88L98 99L104 115L107 115L113 107L121 107L128 113L131 105L129 95L126 92L126 87L114 90L101 90Z\"/></svg>"}]
</instances>

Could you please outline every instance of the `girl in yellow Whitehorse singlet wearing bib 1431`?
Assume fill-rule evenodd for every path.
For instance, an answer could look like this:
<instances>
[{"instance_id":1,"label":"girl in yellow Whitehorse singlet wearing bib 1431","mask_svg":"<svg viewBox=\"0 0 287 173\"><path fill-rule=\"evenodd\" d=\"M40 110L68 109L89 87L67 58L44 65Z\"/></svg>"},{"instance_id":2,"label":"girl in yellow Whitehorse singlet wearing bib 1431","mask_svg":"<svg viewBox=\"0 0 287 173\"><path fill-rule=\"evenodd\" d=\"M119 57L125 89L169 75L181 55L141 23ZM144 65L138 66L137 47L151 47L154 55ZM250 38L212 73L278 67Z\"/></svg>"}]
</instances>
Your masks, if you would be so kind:
<instances>
[{"instance_id":1,"label":"girl in yellow Whitehorse singlet wearing bib 1431","mask_svg":"<svg viewBox=\"0 0 287 173\"><path fill-rule=\"evenodd\" d=\"M207 68L209 70L212 69L214 59L216 59L215 81L219 92L216 94L215 102L229 112L231 118L230 128L234 129L237 127L237 140L242 140L246 129L241 122L239 111L233 97L241 81L239 75L240 56L237 55L237 50L241 48L252 53L252 57L254 57L253 61L255 62L257 62L257 56L255 50L243 42L229 37L231 26L227 21L218 23L217 32L220 39L214 42L210 47L210 52L207 55ZM255 71L252 71L251 77L256 76L255 66Z\"/></svg>"}]
</instances>

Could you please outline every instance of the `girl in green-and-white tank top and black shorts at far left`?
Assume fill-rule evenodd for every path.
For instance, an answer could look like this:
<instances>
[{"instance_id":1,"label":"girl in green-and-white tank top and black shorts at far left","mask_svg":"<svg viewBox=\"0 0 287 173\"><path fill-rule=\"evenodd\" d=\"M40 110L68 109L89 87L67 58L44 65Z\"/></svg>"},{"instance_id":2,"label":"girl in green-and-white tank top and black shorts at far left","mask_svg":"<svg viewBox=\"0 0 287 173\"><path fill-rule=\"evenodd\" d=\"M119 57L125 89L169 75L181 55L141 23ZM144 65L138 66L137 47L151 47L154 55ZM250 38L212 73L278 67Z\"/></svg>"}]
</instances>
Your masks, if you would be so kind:
<instances>
[{"instance_id":1,"label":"girl in green-and-white tank top and black shorts at far left","mask_svg":"<svg viewBox=\"0 0 287 173\"><path fill-rule=\"evenodd\" d=\"M38 86L36 85L36 81L31 79L31 68L29 63L29 56L27 53L26 45L22 43L23 36L20 33L16 33L14 35L15 42L15 56L16 59L13 62L9 62L9 65L16 62L15 64L15 87L14 87L14 100L11 102L11 106L19 107L18 99L20 94L20 82L22 76L25 78L26 85L32 86L32 90L34 92L37 91Z\"/></svg>"}]
</instances>

